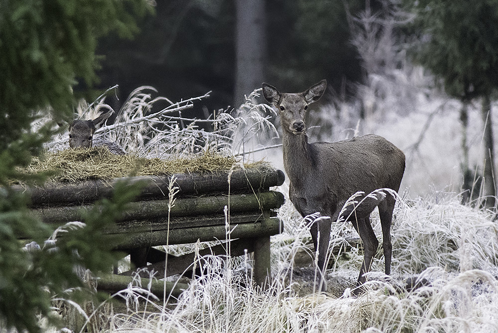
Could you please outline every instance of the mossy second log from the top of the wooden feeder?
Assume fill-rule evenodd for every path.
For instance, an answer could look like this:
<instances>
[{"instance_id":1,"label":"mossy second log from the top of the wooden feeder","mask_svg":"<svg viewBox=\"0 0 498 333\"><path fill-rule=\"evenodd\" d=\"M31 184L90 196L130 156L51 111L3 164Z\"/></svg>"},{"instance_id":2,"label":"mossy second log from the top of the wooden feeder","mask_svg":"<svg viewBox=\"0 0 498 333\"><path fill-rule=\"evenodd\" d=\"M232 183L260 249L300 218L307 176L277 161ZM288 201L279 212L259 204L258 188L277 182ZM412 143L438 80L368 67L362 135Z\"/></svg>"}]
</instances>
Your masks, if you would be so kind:
<instances>
[{"instance_id":1,"label":"mossy second log from the top of the wooden feeder","mask_svg":"<svg viewBox=\"0 0 498 333\"><path fill-rule=\"evenodd\" d=\"M174 206L171 207L169 215L170 217L176 217L223 213L225 206L230 207L231 213L257 212L279 208L283 202L283 194L274 191L234 194L230 198L225 195L177 198ZM70 221L82 221L85 212L92 208L93 205L61 206L38 208L32 211L45 223L64 224ZM167 216L167 200L138 201L129 202L126 205L121 221L154 220Z\"/></svg>"}]
</instances>

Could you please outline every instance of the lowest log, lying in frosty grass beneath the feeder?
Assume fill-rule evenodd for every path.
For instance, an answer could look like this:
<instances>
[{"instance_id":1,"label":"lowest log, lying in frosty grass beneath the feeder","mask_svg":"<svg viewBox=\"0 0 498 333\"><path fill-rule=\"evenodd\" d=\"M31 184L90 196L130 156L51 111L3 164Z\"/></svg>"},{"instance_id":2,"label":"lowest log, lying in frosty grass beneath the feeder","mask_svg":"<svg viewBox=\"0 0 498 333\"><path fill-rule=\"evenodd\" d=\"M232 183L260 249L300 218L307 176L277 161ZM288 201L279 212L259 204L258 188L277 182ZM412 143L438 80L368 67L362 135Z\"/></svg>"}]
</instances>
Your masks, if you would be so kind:
<instances>
[{"instance_id":1,"label":"lowest log, lying in frosty grass beneath the feeder","mask_svg":"<svg viewBox=\"0 0 498 333\"><path fill-rule=\"evenodd\" d=\"M128 288L128 285L132 282L132 277L109 274L102 276L98 279L97 289L106 290L111 292L118 292ZM164 290L166 290L166 297L171 294L171 296L178 298L183 290L188 289L188 284L185 283L173 283L168 281L157 281L147 278L141 278L142 288L146 289L147 285L151 283L150 291L157 297L162 298L164 295Z\"/></svg>"}]
</instances>

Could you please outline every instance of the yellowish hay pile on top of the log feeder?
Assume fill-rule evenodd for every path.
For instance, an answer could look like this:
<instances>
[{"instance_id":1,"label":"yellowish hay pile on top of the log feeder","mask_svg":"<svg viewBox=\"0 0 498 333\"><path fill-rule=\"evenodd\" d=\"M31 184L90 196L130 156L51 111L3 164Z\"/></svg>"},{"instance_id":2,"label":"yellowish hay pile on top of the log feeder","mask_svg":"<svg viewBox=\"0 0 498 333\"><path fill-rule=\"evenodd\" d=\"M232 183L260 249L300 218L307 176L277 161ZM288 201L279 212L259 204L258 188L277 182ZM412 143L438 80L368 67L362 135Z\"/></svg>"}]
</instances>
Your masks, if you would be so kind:
<instances>
[{"instance_id":1,"label":"yellowish hay pile on top of the log feeder","mask_svg":"<svg viewBox=\"0 0 498 333\"><path fill-rule=\"evenodd\" d=\"M95 147L47 153L41 158L33 158L31 165L20 171L28 174L47 173L51 182L76 183L139 175L227 171L237 162L235 157L209 152L192 158L161 160L114 155L107 147Z\"/></svg>"}]
</instances>

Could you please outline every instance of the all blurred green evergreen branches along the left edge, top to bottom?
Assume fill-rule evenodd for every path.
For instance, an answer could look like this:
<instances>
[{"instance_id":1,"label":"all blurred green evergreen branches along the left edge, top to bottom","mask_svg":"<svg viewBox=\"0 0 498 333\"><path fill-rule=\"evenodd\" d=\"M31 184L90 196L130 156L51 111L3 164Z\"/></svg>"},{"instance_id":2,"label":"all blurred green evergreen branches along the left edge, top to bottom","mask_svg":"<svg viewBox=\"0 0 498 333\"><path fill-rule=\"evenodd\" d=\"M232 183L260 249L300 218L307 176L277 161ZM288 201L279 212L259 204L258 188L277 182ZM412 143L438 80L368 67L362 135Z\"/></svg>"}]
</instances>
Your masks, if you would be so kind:
<instances>
[{"instance_id":1,"label":"all blurred green evergreen branches along the left edge, top to bottom","mask_svg":"<svg viewBox=\"0 0 498 333\"><path fill-rule=\"evenodd\" d=\"M110 31L130 38L136 17L151 12L145 0L0 0L0 326L39 331L36 315L50 313L54 293L81 285L75 265L102 270L113 260L102 228L124 209L136 188L119 186L85 219L87 226L67 233L57 250L25 251L18 237L43 244L53 232L27 208L24 194L9 179L30 182L16 167L26 166L54 134L55 122L72 118L72 86L96 83L97 39ZM53 118L32 130L37 118ZM48 288L48 289L47 289Z\"/></svg>"}]
</instances>

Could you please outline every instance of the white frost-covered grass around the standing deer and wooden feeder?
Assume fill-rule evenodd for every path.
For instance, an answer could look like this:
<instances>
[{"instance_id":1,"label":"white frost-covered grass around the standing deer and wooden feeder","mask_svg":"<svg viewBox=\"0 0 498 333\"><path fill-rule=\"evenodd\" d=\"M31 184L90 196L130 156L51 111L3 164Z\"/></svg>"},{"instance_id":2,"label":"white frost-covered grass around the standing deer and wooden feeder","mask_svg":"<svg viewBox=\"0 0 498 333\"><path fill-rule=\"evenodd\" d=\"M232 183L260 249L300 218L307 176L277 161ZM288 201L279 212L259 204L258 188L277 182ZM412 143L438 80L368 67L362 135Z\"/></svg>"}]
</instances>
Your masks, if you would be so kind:
<instances>
[{"instance_id":1,"label":"white frost-covered grass around the standing deer and wooden feeder","mask_svg":"<svg viewBox=\"0 0 498 333\"><path fill-rule=\"evenodd\" d=\"M191 153L217 148L226 154L240 154L275 144L261 140L276 135L266 116L271 113L263 113L269 111L258 104L255 95L250 98L244 108L227 111L228 114L221 116L229 119L225 125L214 121L213 124L217 124L213 126L214 134L202 134L204 130L199 128L192 130L194 121L191 127L184 127L184 134L169 136L167 142L164 139L161 154L177 155L173 138L180 140L180 144L190 142L190 147L197 147L191 149ZM377 104L380 105L380 101ZM113 333L498 332L495 214L480 209L479 199L474 205L461 205L458 194L443 191L458 192L461 182L459 104L446 102L446 108L432 118L430 115L441 103L433 99L432 103L420 105L427 110L385 117L382 122L370 119L356 127L359 134L375 132L385 136L403 148L407 155L404 189L392 227L392 273L390 277L383 274L384 263L379 249L368 274L367 290L360 297L351 296L363 260L361 247L349 248L349 242L358 238L352 226L333 223L330 247L341 250L332 255L329 262L328 293L316 293L317 274L313 264L316 258L307 227L310 220L300 217L287 201L278 213L284 230L271 238L272 283L268 290L261 291L254 286L250 255L228 261L216 257L198 258L207 271L189 282L189 289L180 299L157 299L137 278L128 289L114 296L126 301L122 306L105 302L85 307L89 316L87 325ZM334 109L322 110L322 117L330 110ZM476 118L469 142L477 145L473 146L477 147L473 154L474 161L478 162L480 126ZM175 126L181 128L180 120L171 118L168 121L176 121ZM330 133L318 132L319 139L333 141L351 136L355 129L344 131L347 129L341 127L344 121L344 118L336 119L329 127ZM106 128L102 131L109 133ZM183 136L197 135L199 138L199 133L205 140L189 141ZM318 134L315 133L312 140L317 139ZM129 147L132 147L133 141L140 137L130 138ZM143 147L147 140L143 140ZM415 143L418 145L413 147ZM143 156L149 153L155 156L157 151L139 150ZM278 148L249 156L256 159L265 156L275 166L283 167ZM288 183L277 190L287 195ZM372 222L380 237L376 211ZM199 245L169 248L174 253L182 253L196 250ZM157 274L161 275L161 272ZM415 282L420 279L423 283L418 289L407 290L409 278ZM92 309L97 310L92 313Z\"/></svg>"}]
</instances>

